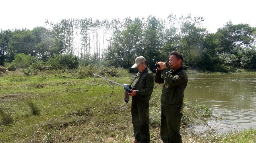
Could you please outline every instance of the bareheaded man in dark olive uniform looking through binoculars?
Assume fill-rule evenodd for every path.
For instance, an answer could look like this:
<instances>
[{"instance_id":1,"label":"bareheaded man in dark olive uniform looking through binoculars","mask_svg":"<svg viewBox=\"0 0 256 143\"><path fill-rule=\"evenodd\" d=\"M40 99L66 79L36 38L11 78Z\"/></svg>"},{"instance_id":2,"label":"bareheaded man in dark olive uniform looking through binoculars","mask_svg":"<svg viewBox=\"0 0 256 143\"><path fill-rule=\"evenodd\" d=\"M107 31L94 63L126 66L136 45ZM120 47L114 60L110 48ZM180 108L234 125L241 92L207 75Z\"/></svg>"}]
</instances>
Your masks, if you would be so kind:
<instances>
[{"instance_id":1,"label":"bareheaded man in dark olive uniform looking through binoculars","mask_svg":"<svg viewBox=\"0 0 256 143\"><path fill-rule=\"evenodd\" d=\"M178 52L170 53L168 71L165 62L159 65L154 80L164 83L161 94L160 135L164 143L181 143L180 124L183 115L184 90L187 87L187 73L182 68L183 56Z\"/></svg>"}]
</instances>

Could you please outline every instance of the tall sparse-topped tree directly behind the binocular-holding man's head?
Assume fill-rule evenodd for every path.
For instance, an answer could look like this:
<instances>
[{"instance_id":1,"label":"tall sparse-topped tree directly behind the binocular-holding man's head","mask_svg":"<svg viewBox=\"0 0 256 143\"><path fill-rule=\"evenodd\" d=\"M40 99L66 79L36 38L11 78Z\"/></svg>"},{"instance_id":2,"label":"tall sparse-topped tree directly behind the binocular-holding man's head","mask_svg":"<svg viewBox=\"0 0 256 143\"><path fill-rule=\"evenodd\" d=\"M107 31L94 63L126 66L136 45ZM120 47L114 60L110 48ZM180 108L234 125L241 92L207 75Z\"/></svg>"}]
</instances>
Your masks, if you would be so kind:
<instances>
[{"instance_id":1,"label":"tall sparse-topped tree directly behind the binocular-holding man's head","mask_svg":"<svg viewBox=\"0 0 256 143\"><path fill-rule=\"evenodd\" d=\"M187 14L186 17L181 15L179 18L176 15L170 14L168 42L164 45L164 50L168 53L172 51L180 52L183 57L183 66L189 68L199 68L207 65L202 63L202 60L207 58L207 50L204 47L204 38L208 32L203 27L204 19L200 16L191 17ZM206 44L206 43L205 43ZM165 53L167 56L167 53Z\"/></svg>"}]
</instances>

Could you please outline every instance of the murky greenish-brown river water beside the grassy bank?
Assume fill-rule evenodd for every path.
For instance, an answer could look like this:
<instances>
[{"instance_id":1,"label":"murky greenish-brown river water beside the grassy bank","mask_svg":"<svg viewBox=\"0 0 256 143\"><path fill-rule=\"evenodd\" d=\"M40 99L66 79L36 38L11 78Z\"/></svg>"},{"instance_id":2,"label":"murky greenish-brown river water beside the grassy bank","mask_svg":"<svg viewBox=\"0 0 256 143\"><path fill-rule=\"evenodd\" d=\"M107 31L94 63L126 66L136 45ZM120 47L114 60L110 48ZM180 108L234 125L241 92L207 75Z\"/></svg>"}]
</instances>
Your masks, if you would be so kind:
<instances>
[{"instance_id":1,"label":"murky greenish-brown river water beside the grassy bank","mask_svg":"<svg viewBox=\"0 0 256 143\"><path fill-rule=\"evenodd\" d=\"M256 128L256 75L189 74L184 97L226 118L220 123L209 122L224 131Z\"/></svg>"}]
</instances>

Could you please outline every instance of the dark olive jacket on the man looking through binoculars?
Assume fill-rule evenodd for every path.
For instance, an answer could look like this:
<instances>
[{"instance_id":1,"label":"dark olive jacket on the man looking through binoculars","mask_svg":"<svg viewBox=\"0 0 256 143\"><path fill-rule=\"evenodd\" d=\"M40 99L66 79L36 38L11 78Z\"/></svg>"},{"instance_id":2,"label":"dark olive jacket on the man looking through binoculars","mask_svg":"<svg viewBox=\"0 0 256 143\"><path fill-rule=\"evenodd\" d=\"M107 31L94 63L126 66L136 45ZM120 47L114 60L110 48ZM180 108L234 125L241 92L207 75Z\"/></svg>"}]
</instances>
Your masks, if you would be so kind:
<instances>
[{"instance_id":1,"label":"dark olive jacket on the man looking through binoculars","mask_svg":"<svg viewBox=\"0 0 256 143\"><path fill-rule=\"evenodd\" d=\"M184 90L187 87L187 73L182 67L177 70L168 71L167 68L157 71L155 74L156 83L164 83L161 94L161 106L179 107L182 106Z\"/></svg>"}]
</instances>

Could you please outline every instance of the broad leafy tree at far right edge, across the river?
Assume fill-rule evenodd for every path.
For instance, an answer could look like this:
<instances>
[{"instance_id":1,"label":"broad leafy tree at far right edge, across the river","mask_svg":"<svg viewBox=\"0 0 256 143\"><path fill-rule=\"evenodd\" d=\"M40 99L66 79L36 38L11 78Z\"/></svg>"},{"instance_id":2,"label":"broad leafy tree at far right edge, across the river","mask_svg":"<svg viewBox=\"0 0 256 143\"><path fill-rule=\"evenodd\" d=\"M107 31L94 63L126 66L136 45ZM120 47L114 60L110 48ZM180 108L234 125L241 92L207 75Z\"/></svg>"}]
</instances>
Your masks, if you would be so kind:
<instances>
[{"instance_id":1,"label":"broad leafy tree at far right edge, across the river","mask_svg":"<svg viewBox=\"0 0 256 143\"><path fill-rule=\"evenodd\" d=\"M234 25L228 21L226 25L216 32L218 38L217 53L220 60L227 66L249 68L253 60L253 49L255 45L255 27L249 24ZM248 57L244 57L247 55ZM250 65L250 66L249 66Z\"/></svg>"}]
</instances>

